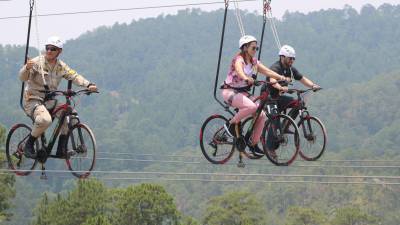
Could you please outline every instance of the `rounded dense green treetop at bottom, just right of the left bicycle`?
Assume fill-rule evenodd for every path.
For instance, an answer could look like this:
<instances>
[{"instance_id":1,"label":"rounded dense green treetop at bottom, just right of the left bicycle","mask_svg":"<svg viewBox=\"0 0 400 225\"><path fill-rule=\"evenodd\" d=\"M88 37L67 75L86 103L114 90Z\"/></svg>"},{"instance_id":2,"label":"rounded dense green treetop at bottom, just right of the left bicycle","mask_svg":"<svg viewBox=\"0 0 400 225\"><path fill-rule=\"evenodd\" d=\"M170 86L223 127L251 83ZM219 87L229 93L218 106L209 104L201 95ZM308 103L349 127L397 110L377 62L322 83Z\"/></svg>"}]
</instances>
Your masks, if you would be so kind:
<instances>
[{"instance_id":1,"label":"rounded dense green treetop at bottom, just right of the left bicycle","mask_svg":"<svg viewBox=\"0 0 400 225\"><path fill-rule=\"evenodd\" d=\"M114 219L120 225L179 224L174 199L159 185L127 188L116 207Z\"/></svg>"}]
</instances>

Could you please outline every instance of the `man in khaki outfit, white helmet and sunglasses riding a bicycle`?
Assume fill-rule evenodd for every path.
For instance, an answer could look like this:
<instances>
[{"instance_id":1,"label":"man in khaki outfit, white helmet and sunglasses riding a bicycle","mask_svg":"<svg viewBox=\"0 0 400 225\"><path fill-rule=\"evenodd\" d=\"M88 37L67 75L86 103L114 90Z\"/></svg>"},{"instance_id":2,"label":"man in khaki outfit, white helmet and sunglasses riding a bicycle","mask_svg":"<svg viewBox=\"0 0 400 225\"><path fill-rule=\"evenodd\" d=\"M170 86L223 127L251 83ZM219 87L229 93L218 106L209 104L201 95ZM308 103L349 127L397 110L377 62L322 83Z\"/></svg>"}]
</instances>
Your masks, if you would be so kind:
<instances>
[{"instance_id":1,"label":"man in khaki outfit, white helmet and sunglasses riding a bicycle","mask_svg":"<svg viewBox=\"0 0 400 225\"><path fill-rule=\"evenodd\" d=\"M50 37L45 46L46 53L32 60L28 60L26 65L24 65L19 72L21 81L26 82L24 110L34 121L32 132L24 148L24 154L29 158L36 157L36 152L33 147L34 143L52 122L51 115L46 108L49 102L44 102L45 94L41 92L46 89L46 86L50 91L57 90L61 79L64 78L72 81L75 85L88 88L90 91L97 91L95 84L90 83L83 76L69 68L63 61L57 59L63 48L63 43L59 37ZM64 123L57 147L57 156L60 158L66 156L65 146L68 141L67 133L67 124ZM73 152L68 154L73 154Z\"/></svg>"}]
</instances>

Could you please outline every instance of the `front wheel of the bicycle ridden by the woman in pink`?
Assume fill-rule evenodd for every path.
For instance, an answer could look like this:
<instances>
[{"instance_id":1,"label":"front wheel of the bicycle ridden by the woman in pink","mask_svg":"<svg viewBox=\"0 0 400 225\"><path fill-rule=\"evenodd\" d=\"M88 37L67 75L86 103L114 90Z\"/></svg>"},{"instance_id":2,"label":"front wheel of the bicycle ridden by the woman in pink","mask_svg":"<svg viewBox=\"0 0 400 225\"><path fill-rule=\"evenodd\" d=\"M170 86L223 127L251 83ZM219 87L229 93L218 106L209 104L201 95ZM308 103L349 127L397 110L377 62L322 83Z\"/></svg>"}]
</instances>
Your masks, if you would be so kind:
<instances>
[{"instance_id":1,"label":"front wheel of the bicycle ridden by the woman in pink","mask_svg":"<svg viewBox=\"0 0 400 225\"><path fill-rule=\"evenodd\" d=\"M277 166L288 166L299 152L299 131L287 115L269 117L262 133L262 143L267 158Z\"/></svg>"}]
</instances>

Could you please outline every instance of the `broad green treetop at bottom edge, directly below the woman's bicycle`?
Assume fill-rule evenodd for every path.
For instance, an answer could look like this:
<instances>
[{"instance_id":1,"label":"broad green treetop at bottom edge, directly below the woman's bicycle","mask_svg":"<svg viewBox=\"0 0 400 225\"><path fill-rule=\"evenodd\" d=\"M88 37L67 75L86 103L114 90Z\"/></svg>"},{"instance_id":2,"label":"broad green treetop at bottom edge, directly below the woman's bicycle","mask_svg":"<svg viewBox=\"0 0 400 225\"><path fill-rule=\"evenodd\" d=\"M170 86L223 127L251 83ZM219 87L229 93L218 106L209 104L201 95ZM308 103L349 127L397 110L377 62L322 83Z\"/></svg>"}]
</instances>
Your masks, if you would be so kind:
<instances>
[{"instance_id":1,"label":"broad green treetop at bottom edge, directly below the woman's bicycle","mask_svg":"<svg viewBox=\"0 0 400 225\"><path fill-rule=\"evenodd\" d=\"M248 192L230 192L211 199L203 218L207 225L261 225L266 223L266 210Z\"/></svg>"}]
</instances>

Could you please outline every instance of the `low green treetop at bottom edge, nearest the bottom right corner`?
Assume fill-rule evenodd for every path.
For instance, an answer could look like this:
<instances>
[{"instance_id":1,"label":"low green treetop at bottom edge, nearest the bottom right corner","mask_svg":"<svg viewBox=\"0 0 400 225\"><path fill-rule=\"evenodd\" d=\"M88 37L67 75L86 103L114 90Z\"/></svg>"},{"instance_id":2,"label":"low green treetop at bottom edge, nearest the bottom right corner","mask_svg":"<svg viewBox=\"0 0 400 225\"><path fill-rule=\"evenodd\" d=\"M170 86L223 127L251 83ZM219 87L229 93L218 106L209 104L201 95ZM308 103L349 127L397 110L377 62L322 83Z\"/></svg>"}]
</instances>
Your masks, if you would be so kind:
<instances>
[{"instance_id":1,"label":"low green treetop at bottom edge, nearest the bottom right corner","mask_svg":"<svg viewBox=\"0 0 400 225\"><path fill-rule=\"evenodd\" d=\"M379 218L363 212L360 208L344 207L336 211L332 219L332 225L375 225L379 224Z\"/></svg>"}]
</instances>

